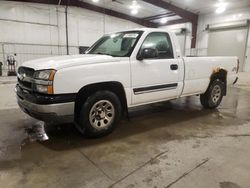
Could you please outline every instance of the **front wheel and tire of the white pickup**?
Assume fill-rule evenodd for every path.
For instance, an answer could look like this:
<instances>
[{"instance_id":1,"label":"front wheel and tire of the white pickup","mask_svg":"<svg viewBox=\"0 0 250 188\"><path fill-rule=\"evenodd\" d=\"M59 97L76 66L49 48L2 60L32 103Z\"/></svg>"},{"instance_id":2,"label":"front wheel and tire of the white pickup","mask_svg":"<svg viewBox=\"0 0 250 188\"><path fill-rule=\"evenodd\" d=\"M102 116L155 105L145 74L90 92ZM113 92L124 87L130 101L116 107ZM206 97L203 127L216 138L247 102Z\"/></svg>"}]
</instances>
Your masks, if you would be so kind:
<instances>
[{"instance_id":1,"label":"front wheel and tire of the white pickup","mask_svg":"<svg viewBox=\"0 0 250 188\"><path fill-rule=\"evenodd\" d=\"M97 91L82 105L76 127L88 138L105 136L115 129L121 112L121 102L117 95L110 91Z\"/></svg>"}]
</instances>

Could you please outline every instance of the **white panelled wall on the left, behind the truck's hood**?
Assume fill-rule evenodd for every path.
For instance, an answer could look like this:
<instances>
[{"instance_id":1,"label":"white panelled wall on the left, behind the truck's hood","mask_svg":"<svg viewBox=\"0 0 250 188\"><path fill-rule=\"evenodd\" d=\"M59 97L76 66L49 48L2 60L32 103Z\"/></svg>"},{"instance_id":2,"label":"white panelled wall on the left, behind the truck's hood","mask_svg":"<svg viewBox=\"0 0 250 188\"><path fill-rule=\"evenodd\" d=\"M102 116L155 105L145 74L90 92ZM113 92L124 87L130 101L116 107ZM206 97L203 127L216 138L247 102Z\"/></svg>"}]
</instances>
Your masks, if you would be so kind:
<instances>
[{"instance_id":1,"label":"white panelled wall on the left, behind the truck's hood","mask_svg":"<svg viewBox=\"0 0 250 188\"><path fill-rule=\"evenodd\" d=\"M68 8L70 54L90 46L103 34L142 27L133 22L87 9ZM18 64L66 54L65 7L46 4L0 2L0 61L17 54Z\"/></svg>"}]
</instances>

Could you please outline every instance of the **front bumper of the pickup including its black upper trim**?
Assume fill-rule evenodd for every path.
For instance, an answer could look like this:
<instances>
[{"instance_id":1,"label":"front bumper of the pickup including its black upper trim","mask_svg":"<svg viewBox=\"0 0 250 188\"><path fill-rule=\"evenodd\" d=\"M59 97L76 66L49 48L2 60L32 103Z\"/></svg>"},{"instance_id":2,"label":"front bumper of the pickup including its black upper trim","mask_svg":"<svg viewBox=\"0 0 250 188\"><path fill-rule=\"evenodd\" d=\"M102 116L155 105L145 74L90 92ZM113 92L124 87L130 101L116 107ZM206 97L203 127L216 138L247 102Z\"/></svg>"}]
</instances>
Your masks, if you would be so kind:
<instances>
[{"instance_id":1,"label":"front bumper of the pickup including its black upper trim","mask_svg":"<svg viewBox=\"0 0 250 188\"><path fill-rule=\"evenodd\" d=\"M65 102L63 102L63 100L60 98L60 102L58 102L57 98L54 99L53 103L53 97L49 97L48 101L46 100L48 96L41 98L41 95L39 95L39 100L34 100L35 98L37 99L37 96L31 93L25 93L25 91L23 91L18 85L16 86L16 96L17 103L22 111L38 120L46 122L70 122L74 120L73 117L75 103L73 101L65 100Z\"/></svg>"}]
</instances>

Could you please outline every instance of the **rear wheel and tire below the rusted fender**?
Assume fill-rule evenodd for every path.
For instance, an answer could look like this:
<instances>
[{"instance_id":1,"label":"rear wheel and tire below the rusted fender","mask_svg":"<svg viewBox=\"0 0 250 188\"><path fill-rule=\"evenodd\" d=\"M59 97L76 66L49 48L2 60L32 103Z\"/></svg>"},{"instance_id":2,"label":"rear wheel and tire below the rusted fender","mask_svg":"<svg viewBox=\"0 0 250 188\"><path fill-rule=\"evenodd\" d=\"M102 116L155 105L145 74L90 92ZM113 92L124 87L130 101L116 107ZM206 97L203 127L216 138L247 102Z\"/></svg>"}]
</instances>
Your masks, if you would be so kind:
<instances>
[{"instance_id":1,"label":"rear wheel and tire below the rusted fender","mask_svg":"<svg viewBox=\"0 0 250 188\"><path fill-rule=\"evenodd\" d=\"M208 109L217 108L222 101L224 91L225 84L221 80L212 81L206 93L200 96L202 106Z\"/></svg>"}]
</instances>

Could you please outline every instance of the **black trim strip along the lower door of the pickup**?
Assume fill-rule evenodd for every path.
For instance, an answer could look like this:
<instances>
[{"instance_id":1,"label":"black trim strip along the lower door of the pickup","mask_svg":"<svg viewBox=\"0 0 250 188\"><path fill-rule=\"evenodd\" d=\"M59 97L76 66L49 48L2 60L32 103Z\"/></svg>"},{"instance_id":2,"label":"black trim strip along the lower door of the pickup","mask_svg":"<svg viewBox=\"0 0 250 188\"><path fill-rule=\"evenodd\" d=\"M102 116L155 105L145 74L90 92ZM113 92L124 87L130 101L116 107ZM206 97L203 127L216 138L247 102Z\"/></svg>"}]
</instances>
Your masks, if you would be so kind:
<instances>
[{"instance_id":1,"label":"black trim strip along the lower door of the pickup","mask_svg":"<svg viewBox=\"0 0 250 188\"><path fill-rule=\"evenodd\" d=\"M135 95L138 95L138 94L143 94L143 93L151 93L151 92L157 92L157 91L163 91L163 90L176 89L177 86L178 86L178 83L172 83L172 84L135 88L133 89L133 91Z\"/></svg>"}]
</instances>

